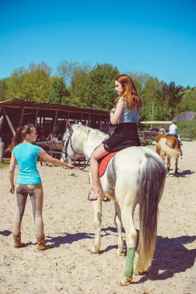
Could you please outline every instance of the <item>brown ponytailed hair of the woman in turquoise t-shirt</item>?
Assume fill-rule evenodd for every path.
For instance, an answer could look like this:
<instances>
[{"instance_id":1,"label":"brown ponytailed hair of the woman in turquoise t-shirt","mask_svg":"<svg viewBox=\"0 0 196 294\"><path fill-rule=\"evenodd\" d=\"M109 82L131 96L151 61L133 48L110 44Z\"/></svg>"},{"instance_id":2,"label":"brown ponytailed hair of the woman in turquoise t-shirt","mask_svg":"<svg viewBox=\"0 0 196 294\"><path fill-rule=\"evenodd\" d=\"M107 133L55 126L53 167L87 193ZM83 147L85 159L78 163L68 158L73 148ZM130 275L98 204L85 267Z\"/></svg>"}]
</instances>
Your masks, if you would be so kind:
<instances>
[{"instance_id":1,"label":"brown ponytailed hair of the woman in turquoise t-shirt","mask_svg":"<svg viewBox=\"0 0 196 294\"><path fill-rule=\"evenodd\" d=\"M5 149L5 152L12 152L14 147L21 144L23 140L25 140L26 135L32 132L32 128L34 128L33 124L26 124L21 127L17 127L16 134L12 138L11 144Z\"/></svg>"}]
</instances>

